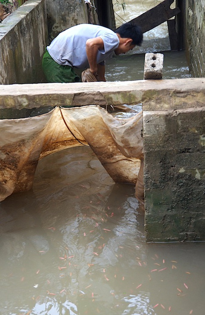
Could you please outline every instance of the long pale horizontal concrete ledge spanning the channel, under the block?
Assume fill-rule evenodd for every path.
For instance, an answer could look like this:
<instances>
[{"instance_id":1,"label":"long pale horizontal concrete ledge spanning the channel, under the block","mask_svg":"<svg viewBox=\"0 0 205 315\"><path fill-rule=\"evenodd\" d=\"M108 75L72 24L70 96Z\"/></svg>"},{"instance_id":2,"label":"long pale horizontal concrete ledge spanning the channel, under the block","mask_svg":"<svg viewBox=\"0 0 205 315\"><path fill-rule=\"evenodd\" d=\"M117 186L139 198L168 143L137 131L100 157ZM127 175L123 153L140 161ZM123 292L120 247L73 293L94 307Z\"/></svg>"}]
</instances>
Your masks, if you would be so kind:
<instances>
[{"instance_id":1,"label":"long pale horizontal concrete ledge spanning the channel, under the block","mask_svg":"<svg viewBox=\"0 0 205 315\"><path fill-rule=\"evenodd\" d=\"M205 79L0 85L0 109L139 102L146 111L203 107Z\"/></svg>"}]
</instances>

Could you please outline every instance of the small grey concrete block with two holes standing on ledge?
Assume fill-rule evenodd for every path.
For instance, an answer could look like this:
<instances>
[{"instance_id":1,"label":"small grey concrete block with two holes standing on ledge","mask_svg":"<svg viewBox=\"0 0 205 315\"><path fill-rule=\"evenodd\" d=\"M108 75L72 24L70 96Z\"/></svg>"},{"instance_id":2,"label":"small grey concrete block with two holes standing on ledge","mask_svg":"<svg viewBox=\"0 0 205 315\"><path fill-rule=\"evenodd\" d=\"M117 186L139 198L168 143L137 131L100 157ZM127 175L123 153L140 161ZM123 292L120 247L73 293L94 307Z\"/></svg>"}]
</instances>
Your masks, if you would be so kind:
<instances>
[{"instance_id":1,"label":"small grey concrete block with two holes standing on ledge","mask_svg":"<svg viewBox=\"0 0 205 315\"><path fill-rule=\"evenodd\" d=\"M163 61L163 54L145 54L144 80L160 80L162 78Z\"/></svg>"}]
</instances>

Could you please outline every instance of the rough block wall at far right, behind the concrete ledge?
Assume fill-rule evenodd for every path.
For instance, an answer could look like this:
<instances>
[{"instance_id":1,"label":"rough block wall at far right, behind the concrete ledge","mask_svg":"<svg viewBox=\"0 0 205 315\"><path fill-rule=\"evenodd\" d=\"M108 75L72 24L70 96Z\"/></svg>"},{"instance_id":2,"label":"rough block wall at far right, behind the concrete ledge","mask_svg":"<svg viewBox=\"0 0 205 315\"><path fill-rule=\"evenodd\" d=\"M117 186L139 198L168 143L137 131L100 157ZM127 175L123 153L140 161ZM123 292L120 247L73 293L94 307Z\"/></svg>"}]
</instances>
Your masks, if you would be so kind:
<instances>
[{"instance_id":1,"label":"rough block wall at far right, behind the concrete ledge","mask_svg":"<svg viewBox=\"0 0 205 315\"><path fill-rule=\"evenodd\" d=\"M193 77L205 77L205 0L187 0L185 49Z\"/></svg>"}]
</instances>

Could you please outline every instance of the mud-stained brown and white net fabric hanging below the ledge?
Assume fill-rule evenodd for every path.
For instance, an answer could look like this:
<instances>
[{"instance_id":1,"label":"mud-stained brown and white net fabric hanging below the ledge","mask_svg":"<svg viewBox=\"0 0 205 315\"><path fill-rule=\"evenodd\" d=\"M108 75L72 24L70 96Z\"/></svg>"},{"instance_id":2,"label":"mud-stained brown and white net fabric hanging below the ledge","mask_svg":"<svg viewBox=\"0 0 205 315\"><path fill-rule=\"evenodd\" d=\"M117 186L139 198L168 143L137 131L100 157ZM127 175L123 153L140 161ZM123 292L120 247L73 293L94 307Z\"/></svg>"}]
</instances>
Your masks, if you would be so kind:
<instances>
[{"instance_id":1,"label":"mud-stained brown and white net fabric hanging below the ledge","mask_svg":"<svg viewBox=\"0 0 205 315\"><path fill-rule=\"evenodd\" d=\"M135 184L143 155L141 130L142 112L114 118L94 105L0 120L0 201L32 188L39 159L73 146L89 145L115 182Z\"/></svg>"}]
</instances>

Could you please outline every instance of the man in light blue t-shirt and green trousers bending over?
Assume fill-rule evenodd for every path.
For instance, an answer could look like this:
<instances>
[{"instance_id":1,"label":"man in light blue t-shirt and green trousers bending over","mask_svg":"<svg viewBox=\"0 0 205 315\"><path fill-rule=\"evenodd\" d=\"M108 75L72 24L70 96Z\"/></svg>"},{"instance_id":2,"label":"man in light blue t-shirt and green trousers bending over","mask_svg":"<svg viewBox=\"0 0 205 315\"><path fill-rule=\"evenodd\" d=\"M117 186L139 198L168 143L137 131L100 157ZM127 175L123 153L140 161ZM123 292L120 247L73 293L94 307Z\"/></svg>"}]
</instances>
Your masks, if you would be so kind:
<instances>
[{"instance_id":1,"label":"man in light blue t-shirt and green trousers bending over","mask_svg":"<svg viewBox=\"0 0 205 315\"><path fill-rule=\"evenodd\" d=\"M90 68L98 81L105 80L105 60L140 46L139 26L128 22L116 32L94 24L79 24L58 34L47 46L42 67L47 82L80 82L77 73ZM77 72L77 73L76 73Z\"/></svg>"}]
</instances>

